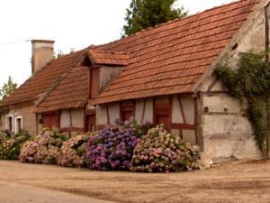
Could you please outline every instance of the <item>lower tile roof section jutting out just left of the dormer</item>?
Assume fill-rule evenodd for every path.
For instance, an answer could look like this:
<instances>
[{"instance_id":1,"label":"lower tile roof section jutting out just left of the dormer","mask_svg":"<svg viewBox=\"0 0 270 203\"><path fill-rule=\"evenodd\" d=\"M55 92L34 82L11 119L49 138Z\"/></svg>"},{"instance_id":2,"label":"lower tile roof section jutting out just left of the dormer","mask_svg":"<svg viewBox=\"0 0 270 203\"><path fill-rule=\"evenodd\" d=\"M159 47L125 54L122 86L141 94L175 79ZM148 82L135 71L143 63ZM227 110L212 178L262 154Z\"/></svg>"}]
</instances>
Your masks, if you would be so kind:
<instances>
[{"instance_id":1,"label":"lower tile roof section jutting out just left of the dormer","mask_svg":"<svg viewBox=\"0 0 270 203\"><path fill-rule=\"evenodd\" d=\"M59 81L35 112L54 111L64 108L85 106L89 92L89 67L76 67Z\"/></svg>"}]
</instances>

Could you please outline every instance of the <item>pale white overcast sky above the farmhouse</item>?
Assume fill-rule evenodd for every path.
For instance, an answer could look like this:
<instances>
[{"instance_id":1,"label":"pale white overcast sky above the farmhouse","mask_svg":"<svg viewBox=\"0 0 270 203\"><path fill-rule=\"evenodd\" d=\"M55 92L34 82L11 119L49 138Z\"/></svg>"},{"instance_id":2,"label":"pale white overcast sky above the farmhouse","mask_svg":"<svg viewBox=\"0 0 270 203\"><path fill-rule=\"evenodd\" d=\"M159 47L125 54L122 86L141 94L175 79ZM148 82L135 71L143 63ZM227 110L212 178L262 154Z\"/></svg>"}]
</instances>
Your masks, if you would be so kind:
<instances>
[{"instance_id":1,"label":"pale white overcast sky above the farmhouse","mask_svg":"<svg viewBox=\"0 0 270 203\"><path fill-rule=\"evenodd\" d=\"M232 0L178 0L196 14ZM0 88L11 76L18 85L31 77L30 40L53 40L70 52L120 39L130 0L0 1ZM40 81L42 82L42 81Z\"/></svg>"}]
</instances>

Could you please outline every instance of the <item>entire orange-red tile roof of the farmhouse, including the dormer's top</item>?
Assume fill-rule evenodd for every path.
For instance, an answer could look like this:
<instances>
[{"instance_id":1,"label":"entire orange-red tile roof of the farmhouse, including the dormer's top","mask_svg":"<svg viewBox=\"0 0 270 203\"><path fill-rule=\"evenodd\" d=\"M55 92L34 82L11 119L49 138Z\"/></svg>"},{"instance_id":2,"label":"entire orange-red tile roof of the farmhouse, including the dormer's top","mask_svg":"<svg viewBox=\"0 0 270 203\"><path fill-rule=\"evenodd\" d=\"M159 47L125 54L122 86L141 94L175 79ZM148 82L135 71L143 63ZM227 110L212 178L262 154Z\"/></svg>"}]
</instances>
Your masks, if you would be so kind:
<instances>
[{"instance_id":1,"label":"entire orange-red tile roof of the farmhouse, including the dormer's top","mask_svg":"<svg viewBox=\"0 0 270 203\"><path fill-rule=\"evenodd\" d=\"M86 53L96 64L125 66L101 96L91 100L92 104L189 93L259 2L241 0L222 5L52 60L1 106L35 100L57 82L38 104L37 112L84 106L88 99L89 71L77 64Z\"/></svg>"}]
</instances>

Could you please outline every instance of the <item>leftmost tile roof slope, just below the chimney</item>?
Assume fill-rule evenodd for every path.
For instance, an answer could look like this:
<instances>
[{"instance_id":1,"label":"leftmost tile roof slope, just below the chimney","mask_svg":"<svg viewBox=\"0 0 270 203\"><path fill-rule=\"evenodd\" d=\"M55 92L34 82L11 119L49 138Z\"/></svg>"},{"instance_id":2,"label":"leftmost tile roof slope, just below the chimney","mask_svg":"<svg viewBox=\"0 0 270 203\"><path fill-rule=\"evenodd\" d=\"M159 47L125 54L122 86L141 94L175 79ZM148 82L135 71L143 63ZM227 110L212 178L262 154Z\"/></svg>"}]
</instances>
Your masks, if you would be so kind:
<instances>
[{"instance_id":1,"label":"leftmost tile roof slope, just below the chimney","mask_svg":"<svg viewBox=\"0 0 270 203\"><path fill-rule=\"evenodd\" d=\"M48 91L68 69L76 66L84 54L86 54L86 50L76 51L62 58L52 60L47 66L27 79L21 87L15 89L12 95L6 97L1 106L10 106L39 98Z\"/></svg>"}]
</instances>

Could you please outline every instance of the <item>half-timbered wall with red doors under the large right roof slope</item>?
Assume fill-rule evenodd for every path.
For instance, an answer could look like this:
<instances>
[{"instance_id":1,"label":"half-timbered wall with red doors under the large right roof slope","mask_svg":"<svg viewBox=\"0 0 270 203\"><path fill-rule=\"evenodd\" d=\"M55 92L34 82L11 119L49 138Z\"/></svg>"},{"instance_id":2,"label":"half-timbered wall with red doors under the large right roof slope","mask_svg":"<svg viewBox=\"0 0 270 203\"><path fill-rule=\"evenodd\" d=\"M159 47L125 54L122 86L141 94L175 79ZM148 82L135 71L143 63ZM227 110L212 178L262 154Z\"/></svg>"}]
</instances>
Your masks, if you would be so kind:
<instances>
[{"instance_id":1,"label":"half-timbered wall with red doors under the large right roof slope","mask_svg":"<svg viewBox=\"0 0 270 203\"><path fill-rule=\"evenodd\" d=\"M164 123L167 130L186 141L200 143L196 133L197 98L192 95L149 97L96 107L96 125L113 124L123 113L134 116L138 124Z\"/></svg>"}]
</instances>

